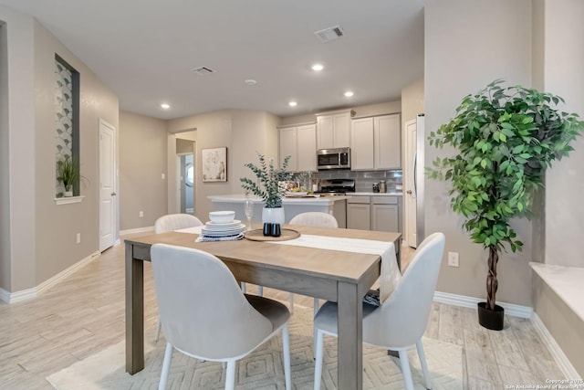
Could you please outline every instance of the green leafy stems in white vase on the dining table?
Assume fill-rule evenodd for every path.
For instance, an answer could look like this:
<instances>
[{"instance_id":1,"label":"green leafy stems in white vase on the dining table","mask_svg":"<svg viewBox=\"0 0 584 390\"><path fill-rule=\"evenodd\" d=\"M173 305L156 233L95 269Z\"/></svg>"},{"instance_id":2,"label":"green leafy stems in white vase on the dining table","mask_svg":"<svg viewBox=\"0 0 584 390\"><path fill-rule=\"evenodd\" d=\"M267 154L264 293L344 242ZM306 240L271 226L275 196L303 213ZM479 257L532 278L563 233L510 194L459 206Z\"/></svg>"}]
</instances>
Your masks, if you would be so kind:
<instances>
[{"instance_id":1,"label":"green leafy stems in white vase on the dining table","mask_svg":"<svg viewBox=\"0 0 584 390\"><path fill-rule=\"evenodd\" d=\"M270 158L269 163L267 163L266 157L263 154L258 153L258 156L259 165L255 165L254 163L245 164L255 174L257 181L247 177L242 177L239 180L245 191L261 197L264 201L262 222L284 225L282 198L286 194L285 182L290 179L291 175L286 172L291 156L287 155L284 158L281 169L276 168L273 158Z\"/></svg>"}]
</instances>

